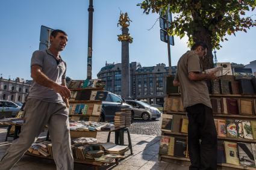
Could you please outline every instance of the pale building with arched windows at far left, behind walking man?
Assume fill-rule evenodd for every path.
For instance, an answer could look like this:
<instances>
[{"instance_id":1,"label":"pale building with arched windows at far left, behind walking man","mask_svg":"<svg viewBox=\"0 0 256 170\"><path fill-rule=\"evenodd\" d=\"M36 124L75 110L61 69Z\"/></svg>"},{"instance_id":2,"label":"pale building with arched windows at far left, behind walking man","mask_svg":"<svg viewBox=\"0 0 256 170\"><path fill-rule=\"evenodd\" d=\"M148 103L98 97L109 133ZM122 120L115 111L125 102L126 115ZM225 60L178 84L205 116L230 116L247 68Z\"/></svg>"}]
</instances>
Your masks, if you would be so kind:
<instances>
[{"instance_id":1,"label":"pale building with arched windows at far left, behind walking man","mask_svg":"<svg viewBox=\"0 0 256 170\"><path fill-rule=\"evenodd\" d=\"M30 91L31 81L16 78L15 80L0 77L0 100L24 102Z\"/></svg>"}]
</instances>

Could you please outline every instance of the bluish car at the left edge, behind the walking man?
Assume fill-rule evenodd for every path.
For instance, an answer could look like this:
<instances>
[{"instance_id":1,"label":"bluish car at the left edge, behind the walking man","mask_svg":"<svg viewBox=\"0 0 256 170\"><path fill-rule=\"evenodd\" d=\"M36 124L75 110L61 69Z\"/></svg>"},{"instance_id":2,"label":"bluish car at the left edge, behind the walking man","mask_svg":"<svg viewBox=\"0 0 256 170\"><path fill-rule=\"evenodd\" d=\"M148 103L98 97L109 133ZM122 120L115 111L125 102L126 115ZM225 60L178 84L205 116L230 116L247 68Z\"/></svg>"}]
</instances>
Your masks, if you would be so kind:
<instances>
[{"instance_id":1,"label":"bluish car at the left edge, behind the walking man","mask_svg":"<svg viewBox=\"0 0 256 170\"><path fill-rule=\"evenodd\" d=\"M21 106L11 101L0 100L0 112L11 112L12 116L16 116Z\"/></svg>"}]
</instances>

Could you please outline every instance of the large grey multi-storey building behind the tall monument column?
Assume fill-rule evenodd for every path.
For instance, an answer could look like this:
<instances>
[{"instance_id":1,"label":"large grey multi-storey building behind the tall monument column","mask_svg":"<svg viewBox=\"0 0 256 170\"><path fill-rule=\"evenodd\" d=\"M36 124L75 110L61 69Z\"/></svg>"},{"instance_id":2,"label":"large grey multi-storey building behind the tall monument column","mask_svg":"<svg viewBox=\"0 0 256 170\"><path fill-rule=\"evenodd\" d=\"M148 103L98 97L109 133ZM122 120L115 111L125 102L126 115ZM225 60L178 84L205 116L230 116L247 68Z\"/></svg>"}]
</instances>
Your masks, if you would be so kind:
<instances>
[{"instance_id":1,"label":"large grey multi-storey building behind the tall monument column","mask_svg":"<svg viewBox=\"0 0 256 170\"><path fill-rule=\"evenodd\" d=\"M152 67L142 67L139 62L130 63L130 99L137 99L149 104L163 105L166 96L166 77L169 67L157 64ZM176 66L172 67L172 74ZM121 95L122 67L120 63L105 64L97 74L105 80L105 90Z\"/></svg>"}]
</instances>

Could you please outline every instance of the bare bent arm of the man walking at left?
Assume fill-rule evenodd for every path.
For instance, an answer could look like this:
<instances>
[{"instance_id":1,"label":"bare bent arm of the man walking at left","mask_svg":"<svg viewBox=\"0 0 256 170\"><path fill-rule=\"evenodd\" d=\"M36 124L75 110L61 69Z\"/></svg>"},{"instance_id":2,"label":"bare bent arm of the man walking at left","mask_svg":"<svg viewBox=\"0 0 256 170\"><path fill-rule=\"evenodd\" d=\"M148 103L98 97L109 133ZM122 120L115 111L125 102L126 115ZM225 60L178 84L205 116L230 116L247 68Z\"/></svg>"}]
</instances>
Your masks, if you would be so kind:
<instances>
[{"instance_id":1,"label":"bare bent arm of the man walking at left","mask_svg":"<svg viewBox=\"0 0 256 170\"><path fill-rule=\"evenodd\" d=\"M62 97L69 98L70 91L66 86L58 85L51 79L49 79L43 72L39 65L31 66L31 77L40 85L48 88L52 88L55 92L60 93Z\"/></svg>"}]
</instances>

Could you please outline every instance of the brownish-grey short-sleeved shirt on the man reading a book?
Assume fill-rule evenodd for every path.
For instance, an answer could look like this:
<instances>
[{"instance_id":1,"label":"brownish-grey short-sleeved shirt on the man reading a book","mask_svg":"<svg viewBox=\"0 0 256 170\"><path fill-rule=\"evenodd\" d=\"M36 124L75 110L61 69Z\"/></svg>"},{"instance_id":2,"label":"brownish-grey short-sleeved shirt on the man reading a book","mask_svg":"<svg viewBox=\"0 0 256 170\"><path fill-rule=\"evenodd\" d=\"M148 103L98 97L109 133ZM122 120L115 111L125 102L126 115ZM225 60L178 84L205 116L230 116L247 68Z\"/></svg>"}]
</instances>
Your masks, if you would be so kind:
<instances>
[{"instance_id":1,"label":"brownish-grey short-sleeved shirt on the man reading a book","mask_svg":"<svg viewBox=\"0 0 256 170\"><path fill-rule=\"evenodd\" d=\"M184 108L199 103L211 108L211 101L205 80L190 80L189 72L202 73L202 64L199 56L187 51L178 61L175 80L180 82L181 98Z\"/></svg>"}]
</instances>

